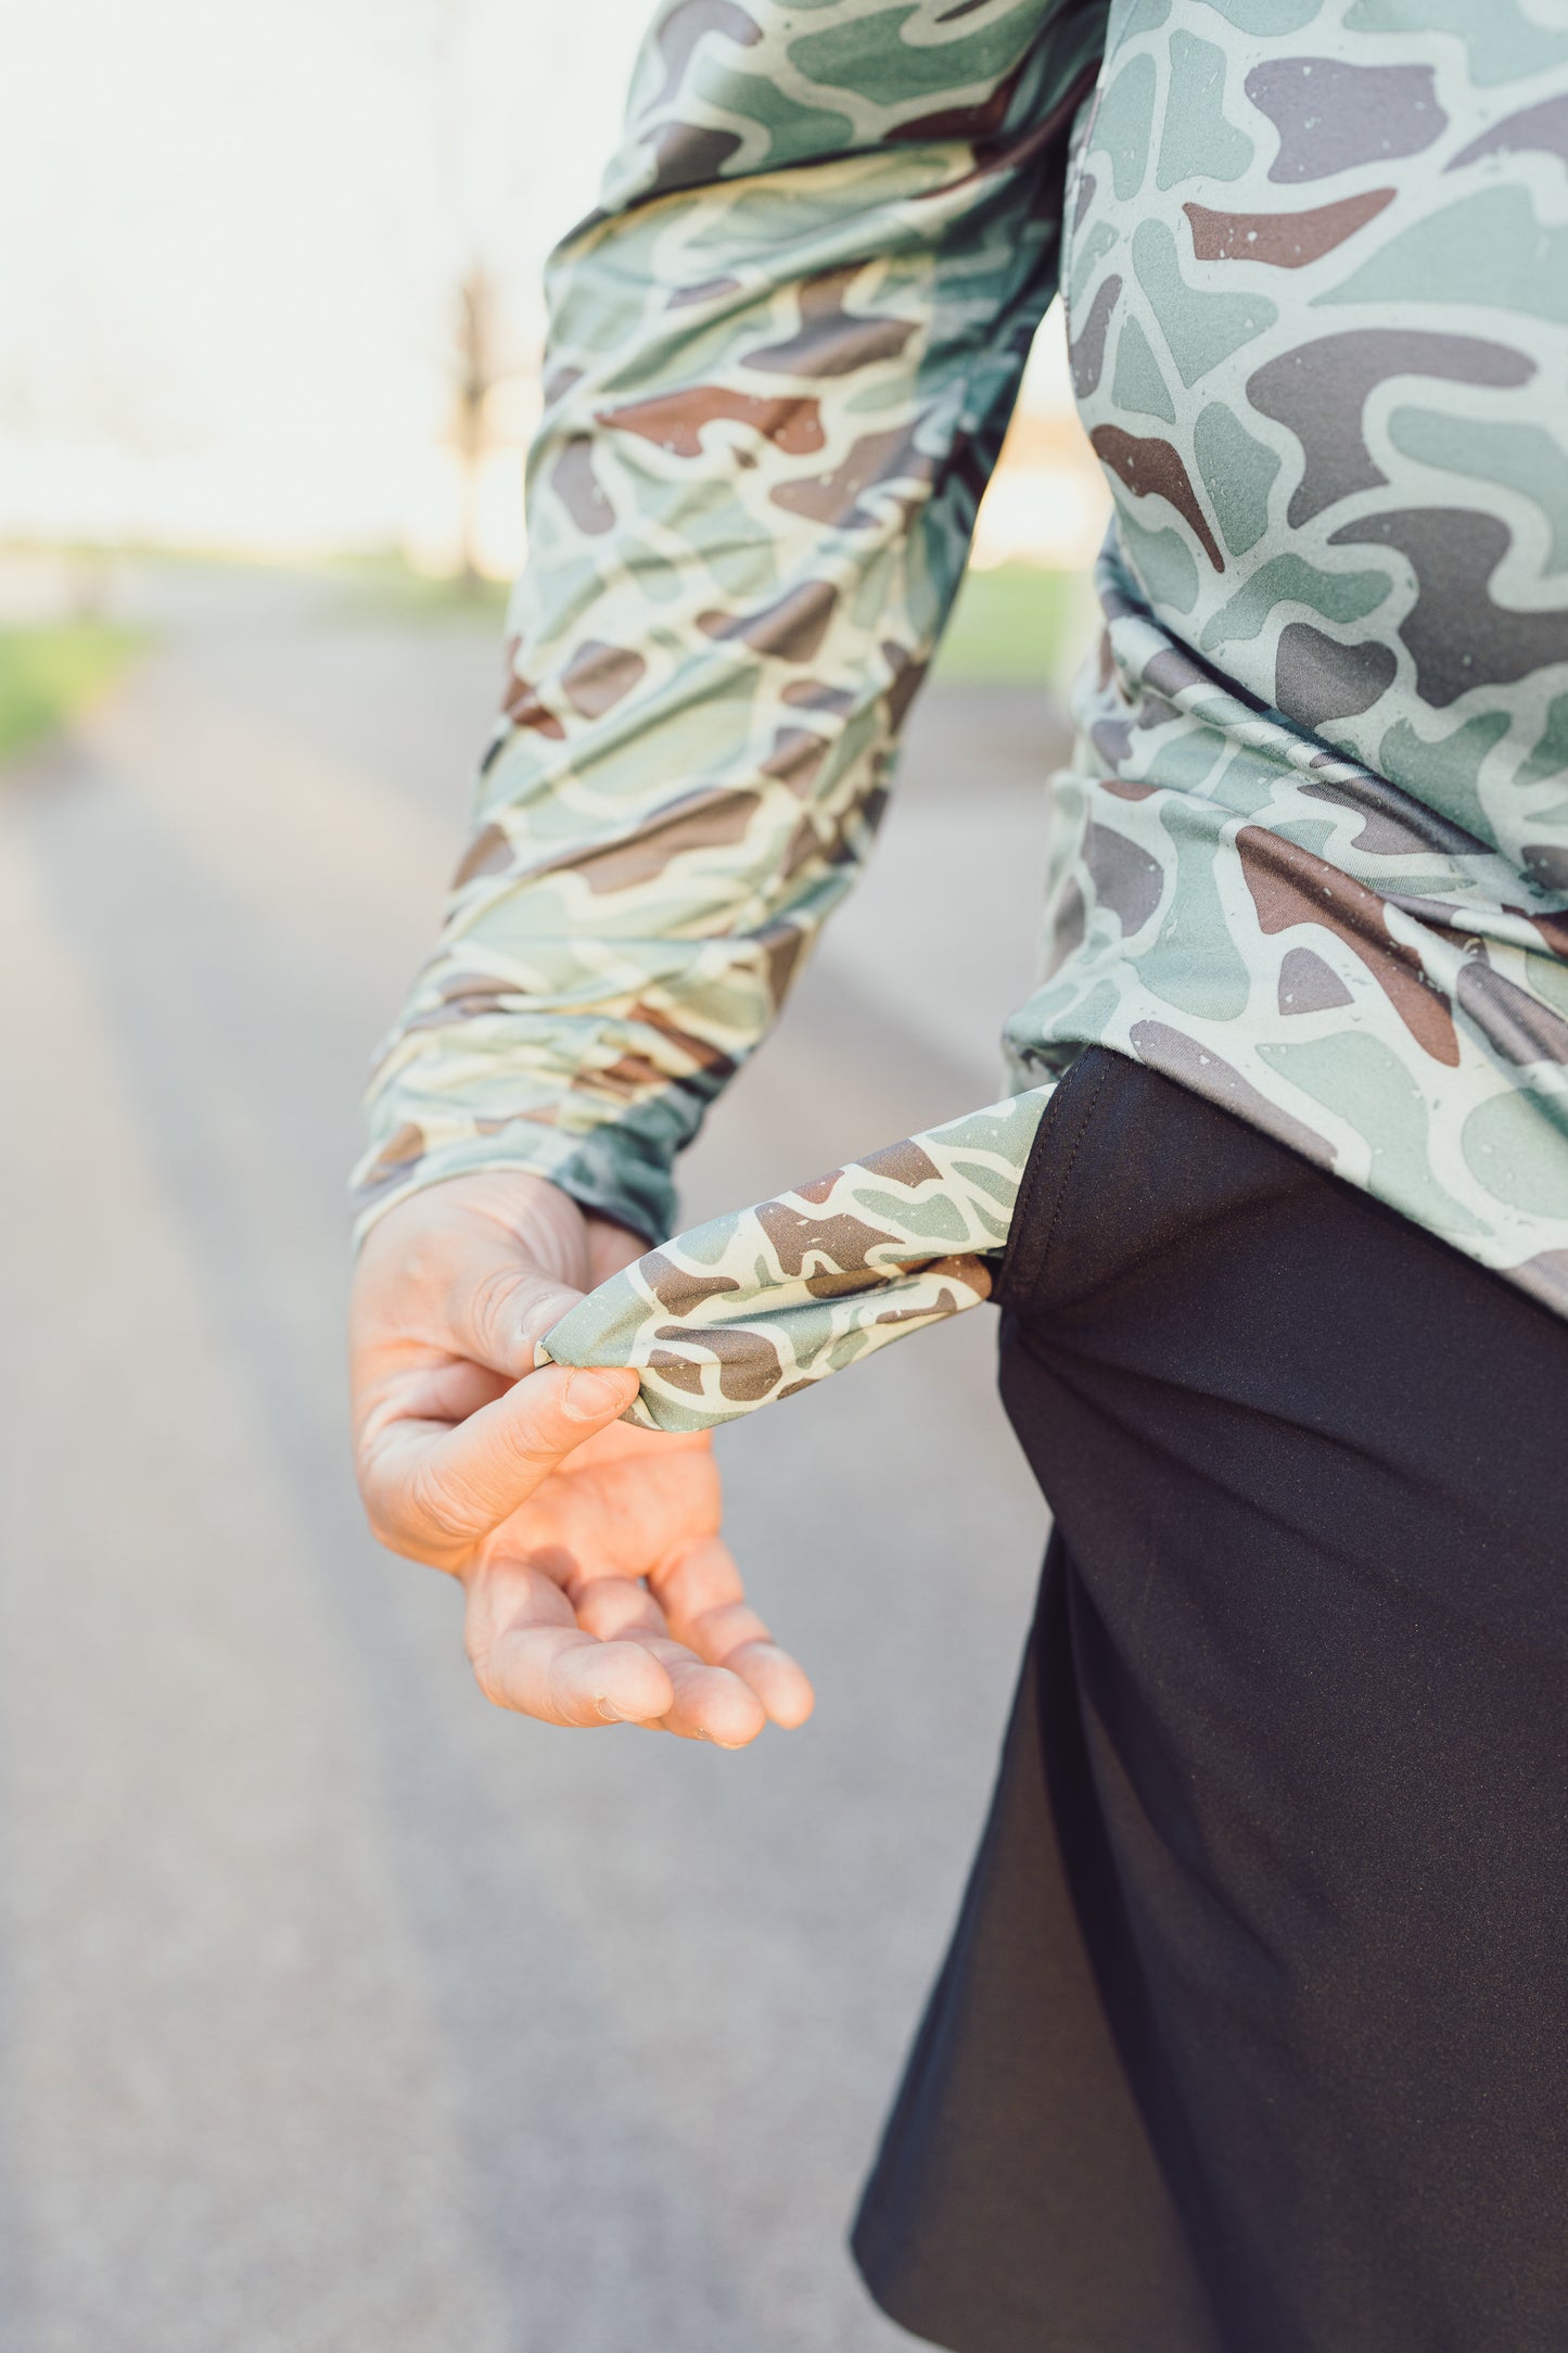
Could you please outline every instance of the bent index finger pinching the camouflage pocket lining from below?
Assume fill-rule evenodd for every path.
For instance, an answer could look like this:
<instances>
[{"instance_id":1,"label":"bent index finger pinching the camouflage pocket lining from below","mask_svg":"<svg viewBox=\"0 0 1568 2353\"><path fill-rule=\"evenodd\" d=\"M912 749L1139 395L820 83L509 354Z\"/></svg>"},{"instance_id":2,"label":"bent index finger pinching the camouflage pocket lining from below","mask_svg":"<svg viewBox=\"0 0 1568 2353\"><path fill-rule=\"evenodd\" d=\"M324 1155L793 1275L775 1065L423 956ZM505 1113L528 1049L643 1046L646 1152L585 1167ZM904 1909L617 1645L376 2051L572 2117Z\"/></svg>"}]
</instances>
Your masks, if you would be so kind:
<instances>
[{"instance_id":1,"label":"bent index finger pinching the camouflage pocket lining from below","mask_svg":"<svg viewBox=\"0 0 1568 2353\"><path fill-rule=\"evenodd\" d=\"M362 1466L376 1534L437 1567L458 1565L635 1395L635 1372L545 1365L456 1428L383 1421L367 1433Z\"/></svg>"}]
</instances>

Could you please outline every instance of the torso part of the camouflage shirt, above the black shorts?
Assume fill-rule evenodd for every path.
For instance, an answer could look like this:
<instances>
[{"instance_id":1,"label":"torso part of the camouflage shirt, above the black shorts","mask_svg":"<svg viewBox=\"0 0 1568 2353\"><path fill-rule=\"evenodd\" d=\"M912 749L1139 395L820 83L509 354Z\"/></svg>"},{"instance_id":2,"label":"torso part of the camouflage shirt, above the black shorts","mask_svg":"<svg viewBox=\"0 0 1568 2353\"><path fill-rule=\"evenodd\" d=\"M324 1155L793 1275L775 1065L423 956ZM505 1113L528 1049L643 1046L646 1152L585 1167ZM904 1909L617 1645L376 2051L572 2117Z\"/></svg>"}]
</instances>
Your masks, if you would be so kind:
<instances>
[{"instance_id":1,"label":"torso part of the camouflage shirt, above the black shorts","mask_svg":"<svg viewBox=\"0 0 1568 2353\"><path fill-rule=\"evenodd\" d=\"M1020 1080L1093 1038L1568 1311L1568 9L1119 14L1117 499Z\"/></svg>"}]
</instances>

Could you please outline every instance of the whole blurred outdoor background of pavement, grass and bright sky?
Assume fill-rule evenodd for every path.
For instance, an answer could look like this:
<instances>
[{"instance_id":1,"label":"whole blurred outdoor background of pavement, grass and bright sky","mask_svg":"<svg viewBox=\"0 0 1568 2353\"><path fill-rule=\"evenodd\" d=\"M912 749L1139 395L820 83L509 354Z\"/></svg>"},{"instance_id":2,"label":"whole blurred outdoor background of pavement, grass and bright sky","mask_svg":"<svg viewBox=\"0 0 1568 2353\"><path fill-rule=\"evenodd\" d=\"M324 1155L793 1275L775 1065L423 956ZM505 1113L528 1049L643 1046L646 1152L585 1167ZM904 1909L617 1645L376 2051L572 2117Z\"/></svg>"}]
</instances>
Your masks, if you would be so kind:
<instances>
[{"instance_id":1,"label":"whole blurred outdoor background of pavement, grass and bright sky","mask_svg":"<svg viewBox=\"0 0 1568 2353\"><path fill-rule=\"evenodd\" d=\"M743 1755L487 1711L348 1475L357 1089L646 9L0 7L0 2353L907 2344L844 2226L1044 1537L992 1318L719 1440L820 1694ZM1100 527L1048 322L689 1217L997 1089Z\"/></svg>"}]
</instances>

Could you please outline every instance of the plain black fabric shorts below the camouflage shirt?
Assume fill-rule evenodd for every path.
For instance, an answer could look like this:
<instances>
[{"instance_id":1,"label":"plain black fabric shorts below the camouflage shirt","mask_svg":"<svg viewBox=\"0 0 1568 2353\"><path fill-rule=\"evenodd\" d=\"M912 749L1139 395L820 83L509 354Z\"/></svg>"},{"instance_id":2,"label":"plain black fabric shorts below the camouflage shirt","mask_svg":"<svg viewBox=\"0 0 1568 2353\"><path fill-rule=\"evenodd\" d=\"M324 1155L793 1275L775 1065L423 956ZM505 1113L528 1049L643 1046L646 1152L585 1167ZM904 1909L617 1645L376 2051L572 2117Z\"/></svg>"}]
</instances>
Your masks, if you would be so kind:
<instances>
[{"instance_id":1,"label":"plain black fabric shorts below the camouflage shirt","mask_svg":"<svg viewBox=\"0 0 1568 2353\"><path fill-rule=\"evenodd\" d=\"M954 2353L1561 2353L1568 1325L1105 1049L1001 1304L1056 1534L872 2294Z\"/></svg>"}]
</instances>

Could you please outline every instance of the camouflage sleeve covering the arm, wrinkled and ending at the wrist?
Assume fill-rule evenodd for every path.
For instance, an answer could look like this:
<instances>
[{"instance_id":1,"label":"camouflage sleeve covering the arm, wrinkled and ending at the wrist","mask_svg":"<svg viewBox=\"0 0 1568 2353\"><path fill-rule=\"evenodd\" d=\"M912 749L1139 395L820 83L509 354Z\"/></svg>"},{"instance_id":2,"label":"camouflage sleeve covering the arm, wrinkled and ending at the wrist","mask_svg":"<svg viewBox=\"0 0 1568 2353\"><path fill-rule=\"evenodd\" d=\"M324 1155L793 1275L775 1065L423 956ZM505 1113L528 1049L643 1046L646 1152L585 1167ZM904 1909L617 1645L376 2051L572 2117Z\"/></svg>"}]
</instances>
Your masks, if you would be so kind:
<instances>
[{"instance_id":1,"label":"camouflage sleeve covering the arm, wrinkled and ending at the wrist","mask_svg":"<svg viewBox=\"0 0 1568 2353\"><path fill-rule=\"evenodd\" d=\"M475 831L360 1231L534 1169L649 1240L886 798L1056 292L1103 0L675 0L550 264Z\"/></svg>"}]
</instances>

